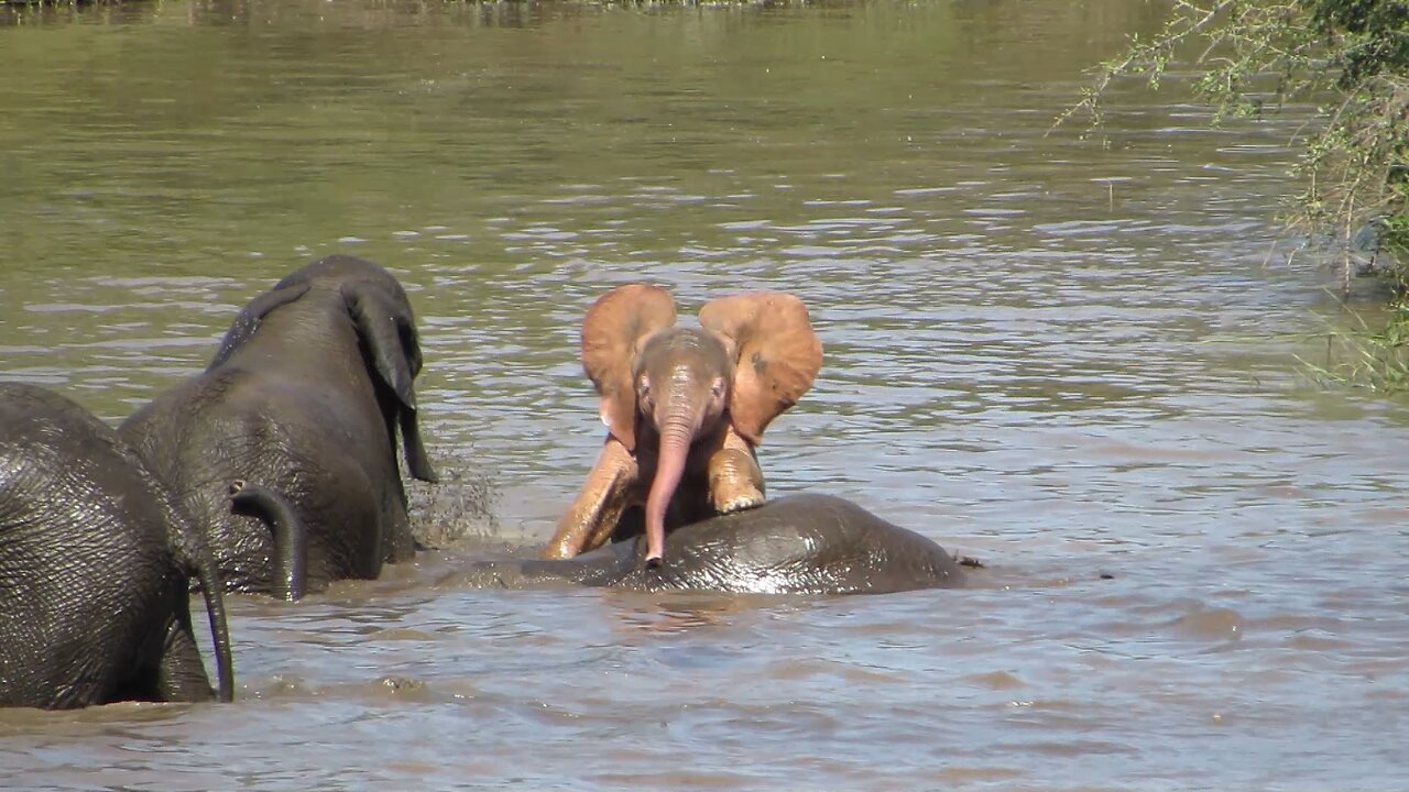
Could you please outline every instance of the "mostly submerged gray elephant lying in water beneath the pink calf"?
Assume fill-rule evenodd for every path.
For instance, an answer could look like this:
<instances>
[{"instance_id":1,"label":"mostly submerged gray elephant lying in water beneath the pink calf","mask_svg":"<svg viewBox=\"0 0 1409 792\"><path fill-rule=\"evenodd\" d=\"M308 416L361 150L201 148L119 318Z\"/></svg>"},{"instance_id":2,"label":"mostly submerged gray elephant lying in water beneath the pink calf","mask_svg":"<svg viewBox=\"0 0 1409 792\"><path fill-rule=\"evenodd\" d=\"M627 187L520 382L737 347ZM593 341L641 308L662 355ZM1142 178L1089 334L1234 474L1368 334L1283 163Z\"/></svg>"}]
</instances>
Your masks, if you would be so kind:
<instances>
[{"instance_id":1,"label":"mostly submerged gray elephant lying in water beneath the pink calf","mask_svg":"<svg viewBox=\"0 0 1409 792\"><path fill-rule=\"evenodd\" d=\"M640 516L628 513L619 528L628 523L640 528ZM645 564L647 544L637 531L568 559L482 561L441 585L843 595L957 588L965 581L960 562L934 541L830 495L792 495L681 526L661 564Z\"/></svg>"}]
</instances>

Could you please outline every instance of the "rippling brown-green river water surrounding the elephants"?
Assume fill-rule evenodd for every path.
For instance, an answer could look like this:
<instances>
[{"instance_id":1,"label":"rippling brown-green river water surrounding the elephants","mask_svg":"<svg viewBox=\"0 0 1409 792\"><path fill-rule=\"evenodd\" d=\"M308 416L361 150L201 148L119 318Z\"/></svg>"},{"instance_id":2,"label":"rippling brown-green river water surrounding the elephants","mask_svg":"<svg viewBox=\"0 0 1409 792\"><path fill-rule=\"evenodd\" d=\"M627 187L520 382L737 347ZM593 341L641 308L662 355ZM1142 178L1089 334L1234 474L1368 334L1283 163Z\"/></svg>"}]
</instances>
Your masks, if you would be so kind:
<instances>
[{"instance_id":1,"label":"rippling brown-green river water surrounding the elephants","mask_svg":"<svg viewBox=\"0 0 1409 792\"><path fill-rule=\"evenodd\" d=\"M1409 406L1312 383L1284 145L1178 75L1048 134L1158 4L0 10L0 378L118 421L251 296L406 283L444 541L232 598L228 706L0 713L13 789L1406 789ZM1177 69L1178 70L1178 69ZM761 448L976 555L876 598L466 590L602 438L607 287L783 289ZM199 621L197 621L199 623Z\"/></svg>"}]
</instances>

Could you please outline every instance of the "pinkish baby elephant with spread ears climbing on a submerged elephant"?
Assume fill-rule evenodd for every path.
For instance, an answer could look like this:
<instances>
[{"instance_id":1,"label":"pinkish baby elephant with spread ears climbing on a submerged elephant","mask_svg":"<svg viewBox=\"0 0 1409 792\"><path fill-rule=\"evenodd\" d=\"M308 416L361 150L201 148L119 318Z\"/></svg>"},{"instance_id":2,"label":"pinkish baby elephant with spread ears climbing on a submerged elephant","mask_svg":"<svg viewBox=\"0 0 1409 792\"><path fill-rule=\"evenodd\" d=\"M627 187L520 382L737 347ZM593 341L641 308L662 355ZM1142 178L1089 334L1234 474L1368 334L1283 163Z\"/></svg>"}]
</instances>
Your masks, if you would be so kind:
<instances>
[{"instance_id":1,"label":"pinkish baby elephant with spread ears climbing on a submerged elephant","mask_svg":"<svg viewBox=\"0 0 1409 792\"><path fill-rule=\"evenodd\" d=\"M781 292L720 297L700 327L675 326L657 286L619 286L582 321L582 365L602 396L609 435L544 558L603 544L644 505L647 562L665 531L764 503L754 448L821 366L821 341L802 300Z\"/></svg>"}]
</instances>

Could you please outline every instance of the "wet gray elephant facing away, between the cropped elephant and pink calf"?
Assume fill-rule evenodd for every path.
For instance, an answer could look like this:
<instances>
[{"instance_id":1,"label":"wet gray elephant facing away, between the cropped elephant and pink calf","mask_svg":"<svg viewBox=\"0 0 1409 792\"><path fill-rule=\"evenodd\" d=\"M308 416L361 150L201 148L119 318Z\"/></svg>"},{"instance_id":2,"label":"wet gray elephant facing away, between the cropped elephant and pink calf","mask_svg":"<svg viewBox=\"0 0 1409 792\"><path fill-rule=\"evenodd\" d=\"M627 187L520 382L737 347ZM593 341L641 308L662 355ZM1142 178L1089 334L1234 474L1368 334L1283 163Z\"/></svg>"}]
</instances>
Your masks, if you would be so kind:
<instances>
[{"instance_id":1,"label":"wet gray elephant facing away, between the cropped elephant and pink calf","mask_svg":"<svg viewBox=\"0 0 1409 792\"><path fill-rule=\"evenodd\" d=\"M396 438L410 475L435 481L420 369L402 285L331 255L255 297L203 373L120 431L210 527L227 588L297 599L414 552Z\"/></svg>"}]
</instances>

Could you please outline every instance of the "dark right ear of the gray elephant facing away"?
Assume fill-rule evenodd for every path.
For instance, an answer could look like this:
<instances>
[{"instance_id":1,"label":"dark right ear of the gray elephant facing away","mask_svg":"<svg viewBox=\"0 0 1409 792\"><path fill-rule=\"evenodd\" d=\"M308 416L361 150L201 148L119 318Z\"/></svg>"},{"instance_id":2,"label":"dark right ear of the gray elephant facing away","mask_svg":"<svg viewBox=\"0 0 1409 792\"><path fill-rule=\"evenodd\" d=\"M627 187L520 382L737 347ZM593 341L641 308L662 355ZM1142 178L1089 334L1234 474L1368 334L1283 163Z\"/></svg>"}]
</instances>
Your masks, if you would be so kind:
<instances>
[{"instance_id":1,"label":"dark right ear of the gray elephant facing away","mask_svg":"<svg viewBox=\"0 0 1409 792\"><path fill-rule=\"evenodd\" d=\"M406 466L420 481L440 481L421 440L416 389L411 385L421 371L421 344L410 306L404 299L397 300L369 283L345 285L342 299L372 357L372 368L396 393Z\"/></svg>"}]
</instances>

